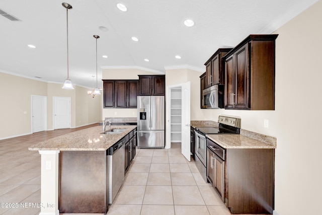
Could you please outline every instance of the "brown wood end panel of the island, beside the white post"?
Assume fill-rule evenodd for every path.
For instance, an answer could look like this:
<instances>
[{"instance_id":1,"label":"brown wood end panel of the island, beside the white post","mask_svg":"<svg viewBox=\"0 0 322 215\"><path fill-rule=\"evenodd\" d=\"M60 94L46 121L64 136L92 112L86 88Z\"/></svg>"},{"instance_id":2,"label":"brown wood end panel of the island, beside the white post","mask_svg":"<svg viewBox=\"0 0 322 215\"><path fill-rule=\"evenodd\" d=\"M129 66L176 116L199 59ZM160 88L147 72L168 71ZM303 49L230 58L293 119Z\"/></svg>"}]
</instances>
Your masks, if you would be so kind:
<instances>
[{"instance_id":1,"label":"brown wood end panel of the island, beside the white post","mask_svg":"<svg viewBox=\"0 0 322 215\"><path fill-rule=\"evenodd\" d=\"M107 212L107 162L106 151L60 152L59 212Z\"/></svg>"}]
</instances>

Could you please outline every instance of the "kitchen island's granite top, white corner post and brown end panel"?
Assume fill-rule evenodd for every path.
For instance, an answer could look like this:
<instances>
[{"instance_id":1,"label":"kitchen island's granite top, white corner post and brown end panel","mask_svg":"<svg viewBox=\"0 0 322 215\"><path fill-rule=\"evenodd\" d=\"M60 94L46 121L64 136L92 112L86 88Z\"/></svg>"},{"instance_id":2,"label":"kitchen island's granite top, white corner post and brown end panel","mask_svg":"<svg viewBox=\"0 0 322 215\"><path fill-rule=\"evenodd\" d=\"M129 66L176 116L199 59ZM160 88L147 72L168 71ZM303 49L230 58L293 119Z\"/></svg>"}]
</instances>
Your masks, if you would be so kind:
<instances>
[{"instance_id":1,"label":"kitchen island's granite top, white corner post and brown end panel","mask_svg":"<svg viewBox=\"0 0 322 215\"><path fill-rule=\"evenodd\" d=\"M102 126L95 126L29 147L41 154L40 214L106 213L108 150L135 128L135 125L107 126L106 131L124 130L102 134Z\"/></svg>"}]
</instances>

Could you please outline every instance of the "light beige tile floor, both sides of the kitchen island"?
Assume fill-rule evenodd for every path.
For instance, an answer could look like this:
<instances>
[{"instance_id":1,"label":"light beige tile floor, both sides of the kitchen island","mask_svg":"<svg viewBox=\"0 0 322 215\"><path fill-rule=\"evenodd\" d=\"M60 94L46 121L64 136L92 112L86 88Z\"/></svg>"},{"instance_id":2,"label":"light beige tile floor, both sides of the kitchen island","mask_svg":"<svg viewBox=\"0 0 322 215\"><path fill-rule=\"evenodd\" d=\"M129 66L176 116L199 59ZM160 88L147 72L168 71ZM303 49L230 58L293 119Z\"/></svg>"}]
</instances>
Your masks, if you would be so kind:
<instances>
[{"instance_id":1,"label":"light beige tile floor, both sides of the kitchen island","mask_svg":"<svg viewBox=\"0 0 322 215\"><path fill-rule=\"evenodd\" d=\"M0 140L0 214L39 214L40 155L28 147L75 130L42 131ZM13 207L18 203L18 207ZM35 204L34 204L35 205ZM97 213L95 213L97 214ZM171 149L137 149L123 186L110 205L109 215L209 214L230 215L215 190L201 177L194 160L181 154L180 144Z\"/></svg>"}]
</instances>

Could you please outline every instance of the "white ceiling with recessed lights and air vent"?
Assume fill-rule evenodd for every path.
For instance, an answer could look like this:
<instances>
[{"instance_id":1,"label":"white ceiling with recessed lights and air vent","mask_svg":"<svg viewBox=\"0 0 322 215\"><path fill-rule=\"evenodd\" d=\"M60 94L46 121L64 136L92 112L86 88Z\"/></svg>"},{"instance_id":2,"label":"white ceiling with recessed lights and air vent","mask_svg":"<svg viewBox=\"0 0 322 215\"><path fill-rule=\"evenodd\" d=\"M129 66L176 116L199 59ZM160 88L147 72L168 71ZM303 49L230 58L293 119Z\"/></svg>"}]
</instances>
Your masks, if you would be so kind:
<instances>
[{"instance_id":1,"label":"white ceiling with recessed lights and air vent","mask_svg":"<svg viewBox=\"0 0 322 215\"><path fill-rule=\"evenodd\" d=\"M63 83L67 77L64 1L1 0L0 9L21 21L0 16L0 71ZM205 71L203 64L218 48L234 47L250 34L270 34L316 1L66 0L72 6L69 78L75 85L93 86L94 34L101 37L98 80L102 68L113 67L140 67L159 74L172 67ZM119 11L117 3L128 11ZM185 19L194 20L195 26L184 26ZM108 31L99 30L100 26ZM132 36L139 41L132 41Z\"/></svg>"}]
</instances>

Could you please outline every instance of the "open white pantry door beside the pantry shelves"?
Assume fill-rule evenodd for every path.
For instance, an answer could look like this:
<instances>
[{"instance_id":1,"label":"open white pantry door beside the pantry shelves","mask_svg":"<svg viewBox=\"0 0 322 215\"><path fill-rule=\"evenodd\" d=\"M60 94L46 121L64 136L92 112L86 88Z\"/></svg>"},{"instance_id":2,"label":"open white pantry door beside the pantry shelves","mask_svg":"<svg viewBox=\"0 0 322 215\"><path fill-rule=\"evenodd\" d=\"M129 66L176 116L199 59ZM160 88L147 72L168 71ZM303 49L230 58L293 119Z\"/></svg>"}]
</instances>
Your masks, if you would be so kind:
<instances>
[{"instance_id":1,"label":"open white pantry door beside the pantry shelves","mask_svg":"<svg viewBox=\"0 0 322 215\"><path fill-rule=\"evenodd\" d=\"M190 161L190 82L182 85L181 153Z\"/></svg>"}]
</instances>

